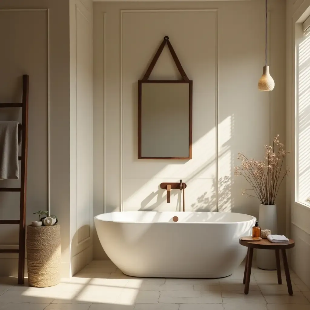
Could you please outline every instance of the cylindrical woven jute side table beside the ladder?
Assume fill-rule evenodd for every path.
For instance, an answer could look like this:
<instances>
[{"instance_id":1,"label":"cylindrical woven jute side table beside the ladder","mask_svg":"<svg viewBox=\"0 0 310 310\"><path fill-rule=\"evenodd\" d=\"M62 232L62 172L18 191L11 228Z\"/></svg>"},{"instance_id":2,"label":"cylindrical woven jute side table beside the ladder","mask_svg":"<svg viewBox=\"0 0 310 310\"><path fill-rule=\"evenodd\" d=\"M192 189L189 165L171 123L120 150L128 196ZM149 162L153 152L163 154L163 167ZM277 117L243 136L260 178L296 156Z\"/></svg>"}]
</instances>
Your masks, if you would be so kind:
<instances>
[{"instance_id":1,"label":"cylindrical woven jute side table beside the ladder","mask_svg":"<svg viewBox=\"0 0 310 310\"><path fill-rule=\"evenodd\" d=\"M47 287L60 282L60 225L28 226L27 267L30 286Z\"/></svg>"}]
</instances>

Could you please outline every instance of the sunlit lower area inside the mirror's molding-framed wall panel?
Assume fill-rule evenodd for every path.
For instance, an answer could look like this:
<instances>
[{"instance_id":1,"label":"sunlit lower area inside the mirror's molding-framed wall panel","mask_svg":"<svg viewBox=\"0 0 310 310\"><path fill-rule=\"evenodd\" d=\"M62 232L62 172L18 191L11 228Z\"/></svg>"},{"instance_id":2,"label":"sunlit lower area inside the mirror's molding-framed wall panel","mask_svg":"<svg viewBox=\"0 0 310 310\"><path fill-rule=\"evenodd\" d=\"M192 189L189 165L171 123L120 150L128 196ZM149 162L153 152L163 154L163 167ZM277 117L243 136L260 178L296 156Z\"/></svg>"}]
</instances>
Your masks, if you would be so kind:
<instances>
[{"instance_id":1,"label":"sunlit lower area inside the mirror's molding-framed wall panel","mask_svg":"<svg viewBox=\"0 0 310 310\"><path fill-rule=\"evenodd\" d=\"M215 128L193 144L192 160L167 164L124 201L124 209L181 210L181 191L172 190L170 204L167 204L166 192L159 188L162 182L178 182L179 179L188 186L185 190L187 211L215 209ZM126 189L130 191L131 184L126 184ZM149 195L145 197L145 193Z\"/></svg>"}]
</instances>

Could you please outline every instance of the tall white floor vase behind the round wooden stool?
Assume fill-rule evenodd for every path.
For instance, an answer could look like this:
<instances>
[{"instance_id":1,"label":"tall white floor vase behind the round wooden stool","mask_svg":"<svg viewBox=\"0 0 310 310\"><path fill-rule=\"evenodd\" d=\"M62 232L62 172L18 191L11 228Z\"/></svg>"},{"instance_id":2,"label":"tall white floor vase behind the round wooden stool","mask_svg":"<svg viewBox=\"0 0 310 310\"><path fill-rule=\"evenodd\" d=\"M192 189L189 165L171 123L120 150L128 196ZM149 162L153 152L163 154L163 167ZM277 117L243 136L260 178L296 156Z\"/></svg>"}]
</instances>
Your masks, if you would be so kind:
<instances>
[{"instance_id":1,"label":"tall white floor vase behind the round wooden stool","mask_svg":"<svg viewBox=\"0 0 310 310\"><path fill-rule=\"evenodd\" d=\"M263 229L271 230L271 233L277 234L277 205L259 205L259 226ZM271 250L257 250L257 267L264 270L276 270L276 256Z\"/></svg>"}]
</instances>

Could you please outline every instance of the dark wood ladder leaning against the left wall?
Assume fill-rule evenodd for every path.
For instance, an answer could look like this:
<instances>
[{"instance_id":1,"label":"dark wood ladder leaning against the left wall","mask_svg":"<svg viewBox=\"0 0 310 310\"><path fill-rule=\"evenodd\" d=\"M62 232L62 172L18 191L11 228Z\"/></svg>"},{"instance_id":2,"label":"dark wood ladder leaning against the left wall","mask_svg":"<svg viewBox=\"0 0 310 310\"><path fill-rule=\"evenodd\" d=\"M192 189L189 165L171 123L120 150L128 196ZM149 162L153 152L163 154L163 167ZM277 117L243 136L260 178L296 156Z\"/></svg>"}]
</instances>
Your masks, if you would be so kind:
<instances>
[{"instance_id":1,"label":"dark wood ladder leaning against the left wall","mask_svg":"<svg viewBox=\"0 0 310 310\"><path fill-rule=\"evenodd\" d=\"M1 187L0 192L20 192L20 219L1 220L0 224L19 224L18 249L0 249L0 253L18 253L18 284L24 284L25 243L26 243L26 189L27 189L27 148L28 148L28 94L29 76L23 75L22 103L0 103L0 108L22 108L20 187Z\"/></svg>"}]
</instances>

